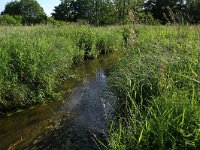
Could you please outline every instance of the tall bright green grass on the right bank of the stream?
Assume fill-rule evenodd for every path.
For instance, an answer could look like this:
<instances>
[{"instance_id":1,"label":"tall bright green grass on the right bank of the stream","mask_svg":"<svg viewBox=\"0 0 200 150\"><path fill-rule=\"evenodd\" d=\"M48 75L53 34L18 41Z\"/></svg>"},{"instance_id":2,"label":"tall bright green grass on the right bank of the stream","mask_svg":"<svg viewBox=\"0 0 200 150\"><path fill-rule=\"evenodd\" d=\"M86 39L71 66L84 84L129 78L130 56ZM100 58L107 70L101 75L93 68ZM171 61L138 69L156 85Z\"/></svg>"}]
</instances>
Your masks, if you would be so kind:
<instances>
[{"instance_id":1,"label":"tall bright green grass on the right bank of the stream","mask_svg":"<svg viewBox=\"0 0 200 150\"><path fill-rule=\"evenodd\" d=\"M110 77L107 149L199 149L200 26L136 26Z\"/></svg>"}]
</instances>

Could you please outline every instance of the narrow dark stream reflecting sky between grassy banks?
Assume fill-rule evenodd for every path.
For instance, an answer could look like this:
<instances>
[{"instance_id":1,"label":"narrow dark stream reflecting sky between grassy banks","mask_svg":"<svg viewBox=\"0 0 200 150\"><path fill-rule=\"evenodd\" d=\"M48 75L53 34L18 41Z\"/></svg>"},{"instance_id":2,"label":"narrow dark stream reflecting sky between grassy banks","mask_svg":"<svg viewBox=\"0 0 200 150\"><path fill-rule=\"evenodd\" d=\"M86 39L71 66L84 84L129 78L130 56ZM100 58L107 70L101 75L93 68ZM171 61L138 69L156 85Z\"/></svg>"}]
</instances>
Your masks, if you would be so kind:
<instances>
[{"instance_id":1,"label":"narrow dark stream reflecting sky between grassy banks","mask_svg":"<svg viewBox=\"0 0 200 150\"><path fill-rule=\"evenodd\" d=\"M116 101L106 72L117 58L114 53L74 66L79 76L62 86L62 101L0 118L0 150L99 149L95 137L106 138Z\"/></svg>"}]
</instances>

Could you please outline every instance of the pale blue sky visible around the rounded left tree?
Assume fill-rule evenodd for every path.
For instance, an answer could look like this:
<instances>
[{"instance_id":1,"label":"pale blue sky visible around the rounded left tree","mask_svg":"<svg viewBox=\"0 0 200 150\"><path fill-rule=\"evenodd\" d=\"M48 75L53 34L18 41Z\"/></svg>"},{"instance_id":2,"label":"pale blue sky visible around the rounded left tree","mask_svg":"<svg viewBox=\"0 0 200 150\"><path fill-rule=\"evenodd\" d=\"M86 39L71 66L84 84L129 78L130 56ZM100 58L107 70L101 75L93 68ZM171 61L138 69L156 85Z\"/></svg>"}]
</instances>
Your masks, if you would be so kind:
<instances>
[{"instance_id":1,"label":"pale blue sky visible around the rounded left tree","mask_svg":"<svg viewBox=\"0 0 200 150\"><path fill-rule=\"evenodd\" d=\"M6 3L13 0L0 0L0 12L5 8ZM45 13L50 16L55 6L60 4L60 0L37 0L38 3L44 8Z\"/></svg>"}]
</instances>

